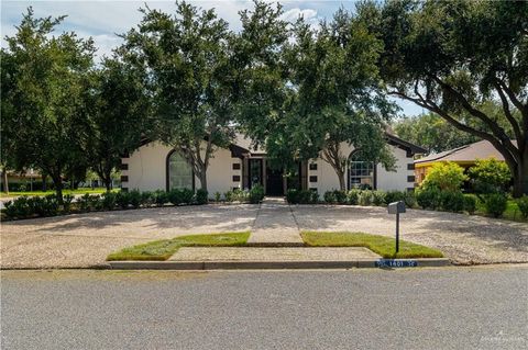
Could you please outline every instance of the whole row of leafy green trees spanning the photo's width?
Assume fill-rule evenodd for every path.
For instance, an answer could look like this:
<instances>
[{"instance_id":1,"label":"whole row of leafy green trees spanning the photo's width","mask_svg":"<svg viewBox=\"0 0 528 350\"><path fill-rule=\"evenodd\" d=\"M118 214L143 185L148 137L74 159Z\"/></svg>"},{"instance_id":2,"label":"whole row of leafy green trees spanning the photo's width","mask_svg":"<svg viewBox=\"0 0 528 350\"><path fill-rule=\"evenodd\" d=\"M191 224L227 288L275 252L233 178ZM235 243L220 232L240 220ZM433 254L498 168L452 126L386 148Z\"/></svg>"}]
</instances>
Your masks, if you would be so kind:
<instances>
[{"instance_id":1,"label":"whole row of leafy green trees spanning the photo's width","mask_svg":"<svg viewBox=\"0 0 528 350\"><path fill-rule=\"evenodd\" d=\"M241 131L282 165L321 155L344 187L342 142L393 168L392 94L490 140L528 193L526 2L361 2L309 25L256 1L239 32L185 2L141 11L96 63L91 39L54 36L64 18L29 9L1 52L3 170L38 169L62 197L65 174L90 168L109 187L122 154L160 139L207 190L215 150Z\"/></svg>"}]
</instances>

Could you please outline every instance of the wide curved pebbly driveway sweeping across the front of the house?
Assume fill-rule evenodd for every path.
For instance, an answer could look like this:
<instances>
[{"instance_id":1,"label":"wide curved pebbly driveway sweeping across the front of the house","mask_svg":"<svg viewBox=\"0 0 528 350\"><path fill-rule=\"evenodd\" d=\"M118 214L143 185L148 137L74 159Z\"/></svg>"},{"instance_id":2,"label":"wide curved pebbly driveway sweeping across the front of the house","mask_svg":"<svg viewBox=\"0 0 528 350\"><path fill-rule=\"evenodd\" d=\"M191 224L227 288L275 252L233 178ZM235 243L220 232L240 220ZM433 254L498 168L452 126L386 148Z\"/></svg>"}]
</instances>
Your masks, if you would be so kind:
<instances>
[{"instance_id":1,"label":"wide curved pebbly driveway sweeping across the front of the house","mask_svg":"<svg viewBox=\"0 0 528 350\"><path fill-rule=\"evenodd\" d=\"M260 215L270 229L350 230L394 236L383 207L284 205L275 221L258 205L204 205L78 214L2 223L1 267L86 268L130 245L189 234L242 232ZM264 223L265 224L265 223ZM286 226L287 227L286 227ZM292 227L289 227L292 226ZM462 214L408 211L402 238L442 250L454 263L528 262L528 224Z\"/></svg>"}]
</instances>

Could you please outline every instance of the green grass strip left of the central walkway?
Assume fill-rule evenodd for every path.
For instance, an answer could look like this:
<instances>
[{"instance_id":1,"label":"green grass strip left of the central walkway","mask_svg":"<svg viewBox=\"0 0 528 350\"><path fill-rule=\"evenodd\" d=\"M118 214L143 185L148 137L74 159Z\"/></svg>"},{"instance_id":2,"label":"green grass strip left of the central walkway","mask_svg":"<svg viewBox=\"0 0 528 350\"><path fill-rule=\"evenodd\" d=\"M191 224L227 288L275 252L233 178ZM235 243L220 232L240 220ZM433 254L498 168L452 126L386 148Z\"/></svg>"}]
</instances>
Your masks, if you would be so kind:
<instances>
[{"instance_id":1,"label":"green grass strip left of the central walkway","mask_svg":"<svg viewBox=\"0 0 528 350\"><path fill-rule=\"evenodd\" d=\"M107 261L123 260L167 260L179 247L232 247L243 246L250 237L249 232L212 235L191 235L172 239L161 239L143 245L127 247L112 252Z\"/></svg>"}]
</instances>

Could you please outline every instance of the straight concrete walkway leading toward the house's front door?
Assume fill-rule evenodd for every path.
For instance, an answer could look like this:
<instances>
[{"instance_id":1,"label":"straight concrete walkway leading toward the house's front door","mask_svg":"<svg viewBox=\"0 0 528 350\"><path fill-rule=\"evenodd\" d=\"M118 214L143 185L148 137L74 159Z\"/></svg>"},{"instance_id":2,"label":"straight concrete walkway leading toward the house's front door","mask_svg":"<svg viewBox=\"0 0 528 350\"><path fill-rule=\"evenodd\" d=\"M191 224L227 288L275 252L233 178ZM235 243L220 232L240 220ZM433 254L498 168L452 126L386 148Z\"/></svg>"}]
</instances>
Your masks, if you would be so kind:
<instances>
[{"instance_id":1,"label":"straight concrete walkway leading toward the house's front door","mask_svg":"<svg viewBox=\"0 0 528 350\"><path fill-rule=\"evenodd\" d=\"M302 246L299 226L284 199L264 199L258 207L248 244L260 247Z\"/></svg>"}]
</instances>

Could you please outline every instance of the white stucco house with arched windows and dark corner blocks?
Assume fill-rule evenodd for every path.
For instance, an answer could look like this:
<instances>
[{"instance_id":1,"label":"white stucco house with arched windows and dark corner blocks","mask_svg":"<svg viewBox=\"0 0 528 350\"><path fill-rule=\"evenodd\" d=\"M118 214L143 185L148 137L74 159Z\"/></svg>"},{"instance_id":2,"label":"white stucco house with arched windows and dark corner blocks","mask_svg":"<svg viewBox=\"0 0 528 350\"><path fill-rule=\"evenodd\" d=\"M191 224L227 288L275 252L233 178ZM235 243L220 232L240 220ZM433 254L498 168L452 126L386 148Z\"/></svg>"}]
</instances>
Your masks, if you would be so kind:
<instances>
[{"instance_id":1,"label":"white stucco house with arched windows and dark corner blocks","mask_svg":"<svg viewBox=\"0 0 528 350\"><path fill-rule=\"evenodd\" d=\"M386 142L396 158L396 171L387 171L382 165L365 161L354 154L350 145L341 145L350 155L346 171L349 189L360 184L380 190L411 190L415 187L414 156L426 149L386 133ZM326 191L339 189L339 179L332 167L320 158L299 163L298 171L284 177L282 169L274 169L266 162L266 153L254 149L251 142L238 135L228 148L218 148L207 171L209 195L228 190L264 187L266 195L284 195L289 188ZM191 167L169 146L160 142L145 142L141 147L121 160L123 190L155 191L172 188L199 188L199 180Z\"/></svg>"}]
</instances>

